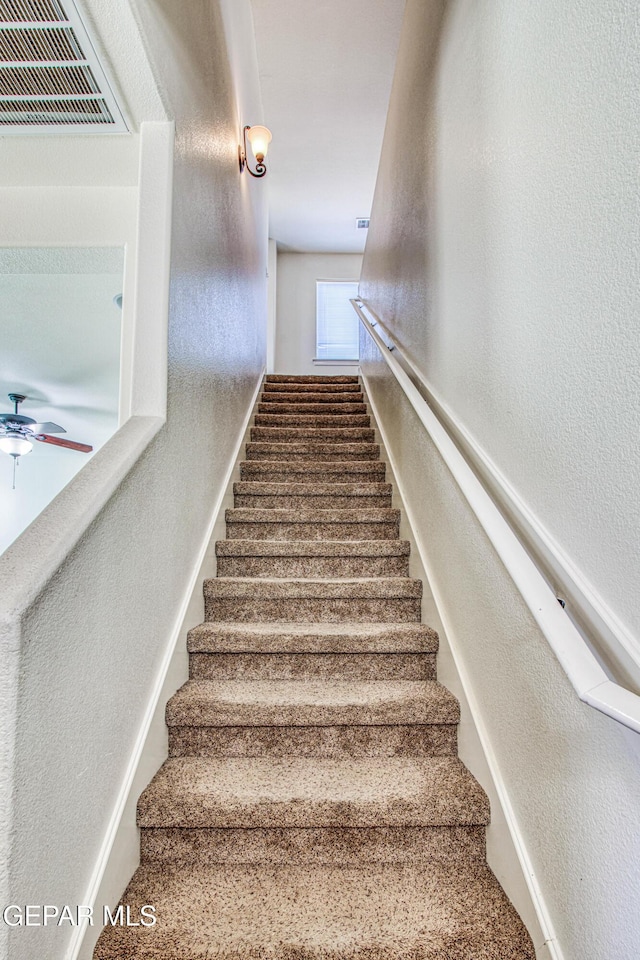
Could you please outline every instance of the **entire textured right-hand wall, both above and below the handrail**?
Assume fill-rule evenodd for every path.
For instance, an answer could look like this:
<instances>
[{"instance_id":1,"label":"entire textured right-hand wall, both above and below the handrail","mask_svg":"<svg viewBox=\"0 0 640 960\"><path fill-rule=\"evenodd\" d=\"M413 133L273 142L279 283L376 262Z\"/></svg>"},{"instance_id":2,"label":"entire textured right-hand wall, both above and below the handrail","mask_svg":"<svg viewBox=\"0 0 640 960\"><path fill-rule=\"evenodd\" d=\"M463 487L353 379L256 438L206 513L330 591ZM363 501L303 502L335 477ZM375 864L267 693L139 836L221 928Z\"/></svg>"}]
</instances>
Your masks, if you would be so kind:
<instances>
[{"instance_id":1,"label":"entire textured right-hand wall, both above and below the handrail","mask_svg":"<svg viewBox=\"0 0 640 960\"><path fill-rule=\"evenodd\" d=\"M636 635L639 74L628 0L409 0L361 282ZM452 642L564 956L632 960L640 740L575 699L391 394Z\"/></svg>"}]
</instances>

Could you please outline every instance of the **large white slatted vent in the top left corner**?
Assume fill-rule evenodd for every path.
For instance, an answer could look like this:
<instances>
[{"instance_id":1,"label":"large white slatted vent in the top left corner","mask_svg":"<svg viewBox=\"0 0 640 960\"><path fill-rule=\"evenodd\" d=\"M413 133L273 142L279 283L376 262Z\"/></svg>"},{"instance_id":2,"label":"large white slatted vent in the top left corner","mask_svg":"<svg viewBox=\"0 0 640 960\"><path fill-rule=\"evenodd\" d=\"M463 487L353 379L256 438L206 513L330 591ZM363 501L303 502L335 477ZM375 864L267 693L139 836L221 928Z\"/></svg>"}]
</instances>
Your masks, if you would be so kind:
<instances>
[{"instance_id":1,"label":"large white slatted vent in the top left corner","mask_svg":"<svg viewBox=\"0 0 640 960\"><path fill-rule=\"evenodd\" d=\"M0 0L0 130L127 132L73 0Z\"/></svg>"}]
</instances>

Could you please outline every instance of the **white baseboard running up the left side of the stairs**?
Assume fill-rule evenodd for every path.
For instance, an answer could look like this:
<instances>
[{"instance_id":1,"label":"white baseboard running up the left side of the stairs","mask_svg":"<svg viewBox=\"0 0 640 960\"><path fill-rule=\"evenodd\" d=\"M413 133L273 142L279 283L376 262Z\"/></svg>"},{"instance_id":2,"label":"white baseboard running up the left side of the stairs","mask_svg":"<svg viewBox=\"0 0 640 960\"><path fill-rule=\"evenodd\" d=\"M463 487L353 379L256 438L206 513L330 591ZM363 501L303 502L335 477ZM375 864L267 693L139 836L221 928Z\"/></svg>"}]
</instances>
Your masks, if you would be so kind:
<instances>
[{"instance_id":1,"label":"white baseboard running up the left side of the stairs","mask_svg":"<svg viewBox=\"0 0 640 960\"><path fill-rule=\"evenodd\" d=\"M227 506L225 501L229 496L238 463L244 456L244 444L248 439L252 416L262 389L263 378L264 369L258 378L256 389L238 434L233 456L214 503L206 533L201 541L184 598L169 635L156 681L138 730L127 772L116 799L87 893L82 900L82 903L87 906L96 908L97 905L97 909L94 909L97 918L102 915L103 905L114 907L131 874L139 864L139 841L137 827L135 826L137 798L141 789L150 779L149 769L151 773L155 772L167 756L167 735L164 721L165 703L188 676L186 672L188 664L186 634L191 627L202 620L202 580L207 575L215 575L215 555L212 552L211 543L212 540L220 538L218 536L220 525L224 528L224 511ZM222 536L224 537L224 533ZM213 567L213 574L207 569L210 567ZM144 762L144 770L142 769L143 761L146 761ZM135 841L133 850L130 849L132 840ZM126 851L126 853L123 854L122 851ZM118 859L118 856L120 856L120 859L118 862L114 862ZM117 892L114 893L114 891ZM85 925L75 927L65 954L65 960L91 960L93 948L100 931L99 920L96 920L96 925L93 927Z\"/></svg>"}]
</instances>

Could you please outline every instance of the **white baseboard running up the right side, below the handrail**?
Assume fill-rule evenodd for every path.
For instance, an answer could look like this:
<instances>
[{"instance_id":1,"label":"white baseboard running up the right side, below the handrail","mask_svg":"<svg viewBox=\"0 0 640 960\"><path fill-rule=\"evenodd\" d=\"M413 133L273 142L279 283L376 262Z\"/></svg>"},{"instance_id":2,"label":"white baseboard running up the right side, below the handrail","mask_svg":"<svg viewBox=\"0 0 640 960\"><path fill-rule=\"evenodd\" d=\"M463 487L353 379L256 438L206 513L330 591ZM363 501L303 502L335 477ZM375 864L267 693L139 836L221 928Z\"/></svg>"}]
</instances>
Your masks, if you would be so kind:
<instances>
[{"instance_id":1,"label":"white baseboard running up the right side, below the handrail","mask_svg":"<svg viewBox=\"0 0 640 960\"><path fill-rule=\"evenodd\" d=\"M455 630L453 629L450 618L447 615L446 605L443 602L442 596L440 595L437 587L434 586L437 581L432 575L429 555L420 536L420 527L414 519L411 509L411 502L407 498L403 488L401 470L399 469L399 465L397 464L388 443L388 437L384 429L384 421L380 416L376 403L371 396L368 379L362 369L360 369L360 376L364 383L365 395L375 420L375 426L380 434L381 447L384 449L387 462L391 469L391 473L393 474L394 485L397 488L399 498L402 501L402 509L408 521L408 526L410 528L410 536L408 539L412 541L412 545L415 545L415 548L419 554L420 564L424 570L426 584L429 586L429 592L433 597L433 602L437 610L437 616L442 624L444 635L441 636L441 651L443 644L446 644L457 674L459 689L452 690L452 692L459 696L459 699L461 700L461 710L463 715L465 714L465 711L468 712L468 716L473 724L473 732L477 741L477 749L482 753L481 759L486 768L487 775L490 777L490 784L486 782L486 777L482 777L481 779L485 789L487 789L487 787L492 788L488 789L492 809L491 828L500 829L500 823L498 821L500 818L502 819L513 849L513 869L517 870L519 878L526 885L526 889L528 891L531 909L529 911L524 911L522 909L522 904L519 903L516 903L516 907L521 914L525 912L529 913L529 918L523 917L523 919L525 919L525 922L529 928L529 933L531 934L531 938L534 941L538 960L564 960L564 955L558 943L549 911L547 910L540 885L538 884L536 878L533 864L529 857L524 838L521 834L518 821L509 799L509 793L506 784L500 772L497 758L495 756L486 725L482 718L482 712L478 706L478 702L473 691L471 678L464 666L464 663L462 662L459 647L456 644ZM474 763L473 757L466 757L462 756L461 754L461 759L466 762L467 765L472 766L473 768L476 767L477 758L476 763ZM476 769L473 769L473 772L477 774ZM498 803L498 810L496 810L496 802ZM491 866L490 857L489 865ZM500 879L503 880L502 877ZM505 887L506 886L508 886L508 884L505 884ZM506 892L509 895L510 891L508 889ZM517 898L513 897L512 899L516 900ZM532 916L535 917L535 927L534 923L532 923Z\"/></svg>"}]
</instances>

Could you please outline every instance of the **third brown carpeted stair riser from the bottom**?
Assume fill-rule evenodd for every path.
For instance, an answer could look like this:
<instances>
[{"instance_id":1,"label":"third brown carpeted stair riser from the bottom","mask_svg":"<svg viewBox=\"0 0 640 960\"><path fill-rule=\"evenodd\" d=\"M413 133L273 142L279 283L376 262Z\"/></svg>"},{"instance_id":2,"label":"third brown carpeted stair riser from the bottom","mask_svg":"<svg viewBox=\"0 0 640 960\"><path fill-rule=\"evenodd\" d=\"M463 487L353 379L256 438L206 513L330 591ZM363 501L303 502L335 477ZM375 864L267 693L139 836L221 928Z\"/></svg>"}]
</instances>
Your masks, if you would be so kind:
<instances>
[{"instance_id":1,"label":"third brown carpeted stair riser from the bottom","mask_svg":"<svg viewBox=\"0 0 640 960\"><path fill-rule=\"evenodd\" d=\"M192 653L192 680L435 680L425 653Z\"/></svg>"}]
</instances>

